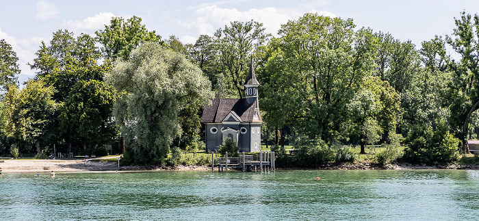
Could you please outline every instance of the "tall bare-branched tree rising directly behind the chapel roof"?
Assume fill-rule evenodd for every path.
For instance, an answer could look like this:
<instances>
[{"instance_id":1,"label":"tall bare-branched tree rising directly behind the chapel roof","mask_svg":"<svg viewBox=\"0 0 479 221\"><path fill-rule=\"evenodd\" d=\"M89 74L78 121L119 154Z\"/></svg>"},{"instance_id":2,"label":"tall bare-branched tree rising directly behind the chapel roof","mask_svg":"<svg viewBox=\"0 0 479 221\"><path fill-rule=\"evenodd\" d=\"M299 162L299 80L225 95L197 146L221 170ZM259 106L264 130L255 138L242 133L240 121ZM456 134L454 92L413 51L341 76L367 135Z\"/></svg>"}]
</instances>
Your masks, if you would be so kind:
<instances>
[{"instance_id":1,"label":"tall bare-branched tree rising directly behind the chapel roof","mask_svg":"<svg viewBox=\"0 0 479 221\"><path fill-rule=\"evenodd\" d=\"M220 65L228 81L230 95L237 92L243 98L243 84L255 49L264 44L270 34L264 32L262 23L234 21L215 33L220 56Z\"/></svg>"}]
</instances>

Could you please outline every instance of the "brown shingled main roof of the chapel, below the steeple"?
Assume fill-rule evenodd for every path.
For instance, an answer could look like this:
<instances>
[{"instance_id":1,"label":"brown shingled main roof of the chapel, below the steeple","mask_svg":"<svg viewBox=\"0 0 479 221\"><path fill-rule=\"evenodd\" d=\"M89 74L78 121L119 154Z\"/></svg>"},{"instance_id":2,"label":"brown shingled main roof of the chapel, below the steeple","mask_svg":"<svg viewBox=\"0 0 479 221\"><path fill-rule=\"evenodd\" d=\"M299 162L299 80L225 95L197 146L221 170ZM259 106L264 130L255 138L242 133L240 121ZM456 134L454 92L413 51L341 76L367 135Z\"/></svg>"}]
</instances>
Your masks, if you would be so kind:
<instances>
[{"instance_id":1,"label":"brown shingled main roof of the chapel, below the steeple","mask_svg":"<svg viewBox=\"0 0 479 221\"><path fill-rule=\"evenodd\" d=\"M201 122L222 122L229 112L239 116L241 122L262 122L260 113L259 120L253 120L255 106L256 103L249 105L246 99L213 99L211 105L205 107Z\"/></svg>"}]
</instances>

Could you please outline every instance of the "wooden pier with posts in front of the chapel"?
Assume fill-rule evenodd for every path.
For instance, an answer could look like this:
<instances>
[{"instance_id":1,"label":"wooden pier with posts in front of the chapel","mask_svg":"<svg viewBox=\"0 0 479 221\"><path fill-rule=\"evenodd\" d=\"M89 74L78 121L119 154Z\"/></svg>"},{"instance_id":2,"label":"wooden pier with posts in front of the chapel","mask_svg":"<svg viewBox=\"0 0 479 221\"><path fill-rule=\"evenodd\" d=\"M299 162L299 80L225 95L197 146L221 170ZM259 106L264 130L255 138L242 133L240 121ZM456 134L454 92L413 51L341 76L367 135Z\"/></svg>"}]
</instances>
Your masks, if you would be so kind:
<instances>
[{"instance_id":1,"label":"wooden pier with posts in front of the chapel","mask_svg":"<svg viewBox=\"0 0 479 221\"><path fill-rule=\"evenodd\" d=\"M211 154L213 159L213 154ZM213 162L213 160L212 160ZM213 171L214 164L211 163L211 171ZM274 152L261 151L259 155L239 155L239 157L218 157L218 172L227 171L229 168L246 171L268 172L274 171Z\"/></svg>"}]
</instances>

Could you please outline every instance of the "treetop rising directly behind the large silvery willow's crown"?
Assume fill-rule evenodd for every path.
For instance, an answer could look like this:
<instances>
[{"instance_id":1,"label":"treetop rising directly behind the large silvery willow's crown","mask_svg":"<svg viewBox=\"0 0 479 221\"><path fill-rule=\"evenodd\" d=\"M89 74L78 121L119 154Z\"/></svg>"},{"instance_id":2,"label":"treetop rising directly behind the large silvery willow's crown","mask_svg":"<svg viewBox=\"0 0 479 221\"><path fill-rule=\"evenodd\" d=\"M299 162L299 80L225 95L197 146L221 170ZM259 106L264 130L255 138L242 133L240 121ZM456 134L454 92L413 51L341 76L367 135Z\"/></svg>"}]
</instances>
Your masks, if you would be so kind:
<instances>
[{"instance_id":1,"label":"treetop rising directly behind the large silvery willow's crown","mask_svg":"<svg viewBox=\"0 0 479 221\"><path fill-rule=\"evenodd\" d=\"M127 21L122 17L114 17L109 25L105 25L105 29L96 31L96 40L103 45L101 51L105 58L112 61L118 57L128 60L131 51L142 42L163 43L161 36L155 34L155 31L148 31L141 22L142 18L137 16Z\"/></svg>"}]
</instances>

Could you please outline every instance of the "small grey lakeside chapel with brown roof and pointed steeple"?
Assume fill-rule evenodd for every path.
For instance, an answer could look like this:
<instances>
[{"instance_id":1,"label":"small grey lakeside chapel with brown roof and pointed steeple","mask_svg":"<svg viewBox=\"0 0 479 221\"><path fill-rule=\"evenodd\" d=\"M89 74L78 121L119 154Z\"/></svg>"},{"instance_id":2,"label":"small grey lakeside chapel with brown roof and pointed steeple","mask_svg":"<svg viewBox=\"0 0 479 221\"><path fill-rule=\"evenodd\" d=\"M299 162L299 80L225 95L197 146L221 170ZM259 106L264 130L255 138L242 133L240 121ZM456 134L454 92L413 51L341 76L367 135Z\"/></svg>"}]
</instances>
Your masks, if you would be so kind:
<instances>
[{"instance_id":1,"label":"small grey lakeside chapel with brown roof and pointed steeple","mask_svg":"<svg viewBox=\"0 0 479 221\"><path fill-rule=\"evenodd\" d=\"M261 151L261 113L258 105L259 82L253 63L244 83L246 98L213 99L206 105L201 117L205 124L205 142L208 152L218 151L226 138L230 138L241 152Z\"/></svg>"}]
</instances>

